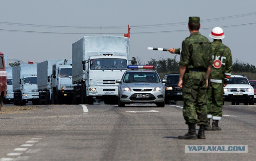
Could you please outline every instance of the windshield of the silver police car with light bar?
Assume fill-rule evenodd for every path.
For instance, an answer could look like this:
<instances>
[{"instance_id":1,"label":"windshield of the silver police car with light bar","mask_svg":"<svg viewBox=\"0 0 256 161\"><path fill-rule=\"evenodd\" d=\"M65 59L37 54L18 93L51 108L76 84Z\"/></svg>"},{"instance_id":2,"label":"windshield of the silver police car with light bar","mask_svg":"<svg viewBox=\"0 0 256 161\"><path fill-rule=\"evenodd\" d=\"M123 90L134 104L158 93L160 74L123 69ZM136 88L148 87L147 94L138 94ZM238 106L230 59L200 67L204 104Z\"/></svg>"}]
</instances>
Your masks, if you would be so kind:
<instances>
[{"instance_id":1,"label":"windshield of the silver police car with light bar","mask_svg":"<svg viewBox=\"0 0 256 161\"><path fill-rule=\"evenodd\" d=\"M157 83L160 82L159 77L154 72L127 72L124 77L126 83L132 82L151 82Z\"/></svg>"}]
</instances>

